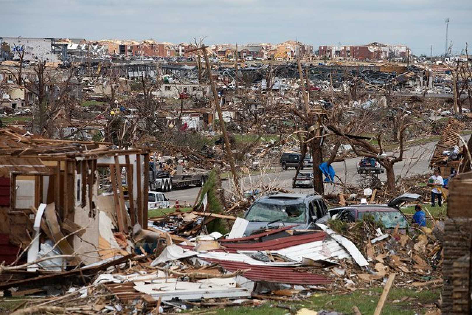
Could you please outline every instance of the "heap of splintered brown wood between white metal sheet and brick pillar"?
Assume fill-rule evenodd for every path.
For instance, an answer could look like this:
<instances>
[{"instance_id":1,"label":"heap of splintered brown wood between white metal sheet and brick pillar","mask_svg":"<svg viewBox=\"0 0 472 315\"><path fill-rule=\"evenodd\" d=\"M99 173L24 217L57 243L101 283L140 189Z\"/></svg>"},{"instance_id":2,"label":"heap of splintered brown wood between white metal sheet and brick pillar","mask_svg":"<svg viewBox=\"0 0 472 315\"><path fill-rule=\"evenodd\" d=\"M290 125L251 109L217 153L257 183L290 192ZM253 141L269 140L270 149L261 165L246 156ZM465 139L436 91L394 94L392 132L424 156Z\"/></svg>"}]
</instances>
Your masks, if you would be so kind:
<instances>
[{"instance_id":1,"label":"heap of splintered brown wood between white metal sheet and brick pillar","mask_svg":"<svg viewBox=\"0 0 472 315\"><path fill-rule=\"evenodd\" d=\"M389 274L396 273L397 287L431 289L442 286L444 224L432 220L433 229L396 227L389 231L382 230L378 222L367 216L355 223L331 221L329 225L357 244L369 262L365 268L345 263L342 270L335 272L337 285L348 289L363 288L376 282L381 284Z\"/></svg>"}]
</instances>

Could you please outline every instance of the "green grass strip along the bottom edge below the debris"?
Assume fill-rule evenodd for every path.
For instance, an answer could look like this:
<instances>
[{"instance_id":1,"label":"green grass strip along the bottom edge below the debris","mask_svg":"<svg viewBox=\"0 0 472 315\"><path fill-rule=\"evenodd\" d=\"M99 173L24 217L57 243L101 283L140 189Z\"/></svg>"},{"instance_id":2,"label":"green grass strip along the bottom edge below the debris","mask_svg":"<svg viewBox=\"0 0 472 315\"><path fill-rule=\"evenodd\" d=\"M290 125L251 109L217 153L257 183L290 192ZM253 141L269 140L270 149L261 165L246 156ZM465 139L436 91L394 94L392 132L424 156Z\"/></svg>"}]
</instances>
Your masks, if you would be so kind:
<instances>
[{"instance_id":1,"label":"green grass strip along the bottom edge below the debris","mask_svg":"<svg viewBox=\"0 0 472 315\"><path fill-rule=\"evenodd\" d=\"M439 290L423 290L416 291L411 289L395 289L392 288L388 294L388 299L382 310L382 314L398 314L412 315L424 314L426 309L419 306L421 304L434 304L439 298ZM367 290L357 290L351 294L334 295L334 294L313 294L311 298L303 301L303 303L278 303L277 301L268 301L265 305L249 306L249 307L228 307L217 310L218 315L232 314L271 314L283 315L287 314L287 309L276 307L278 304L288 304L300 308L308 308L314 311L321 309L329 311L342 312L343 314L353 314L353 306L357 306L362 314L373 314L377 303L379 302L382 288L374 288ZM393 303L393 301L408 297L404 302Z\"/></svg>"}]
</instances>

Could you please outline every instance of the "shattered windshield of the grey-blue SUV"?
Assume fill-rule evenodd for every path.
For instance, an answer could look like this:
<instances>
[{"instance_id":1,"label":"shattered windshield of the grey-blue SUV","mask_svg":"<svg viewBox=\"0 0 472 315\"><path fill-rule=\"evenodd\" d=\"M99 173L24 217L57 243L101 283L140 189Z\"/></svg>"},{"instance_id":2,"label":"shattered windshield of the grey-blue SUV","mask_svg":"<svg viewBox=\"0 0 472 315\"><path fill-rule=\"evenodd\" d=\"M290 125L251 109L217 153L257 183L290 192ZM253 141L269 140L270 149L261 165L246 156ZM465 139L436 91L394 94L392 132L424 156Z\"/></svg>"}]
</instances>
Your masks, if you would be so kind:
<instances>
[{"instance_id":1,"label":"shattered windshield of the grey-blue SUV","mask_svg":"<svg viewBox=\"0 0 472 315\"><path fill-rule=\"evenodd\" d=\"M304 223L305 218L305 204L255 203L245 219L256 222L280 220L288 223Z\"/></svg>"}]
</instances>

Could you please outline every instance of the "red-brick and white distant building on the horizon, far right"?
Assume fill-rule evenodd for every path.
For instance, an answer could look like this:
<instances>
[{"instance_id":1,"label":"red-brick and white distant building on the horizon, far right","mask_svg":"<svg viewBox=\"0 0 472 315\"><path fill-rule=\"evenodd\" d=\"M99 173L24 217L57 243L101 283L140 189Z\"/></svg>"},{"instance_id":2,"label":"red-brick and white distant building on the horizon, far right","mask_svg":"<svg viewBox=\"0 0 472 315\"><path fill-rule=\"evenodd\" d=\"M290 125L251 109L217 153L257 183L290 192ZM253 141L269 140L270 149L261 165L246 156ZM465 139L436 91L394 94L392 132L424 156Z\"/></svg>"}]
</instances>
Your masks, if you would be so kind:
<instances>
[{"instance_id":1,"label":"red-brick and white distant building on the horizon, far right","mask_svg":"<svg viewBox=\"0 0 472 315\"><path fill-rule=\"evenodd\" d=\"M408 55L405 45L370 43L367 45L320 46L320 58L345 60L403 60Z\"/></svg>"}]
</instances>

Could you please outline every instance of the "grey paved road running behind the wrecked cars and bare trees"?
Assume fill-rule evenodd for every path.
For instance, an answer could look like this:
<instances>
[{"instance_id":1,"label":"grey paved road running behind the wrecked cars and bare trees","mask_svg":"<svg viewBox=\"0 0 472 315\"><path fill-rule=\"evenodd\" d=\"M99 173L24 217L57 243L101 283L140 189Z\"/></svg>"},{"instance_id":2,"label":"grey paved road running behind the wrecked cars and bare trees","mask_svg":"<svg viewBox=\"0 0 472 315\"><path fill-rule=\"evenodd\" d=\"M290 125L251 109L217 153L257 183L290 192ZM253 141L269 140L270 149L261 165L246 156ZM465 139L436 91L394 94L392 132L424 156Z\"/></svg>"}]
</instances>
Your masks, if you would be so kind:
<instances>
[{"instance_id":1,"label":"grey paved road running behind the wrecked cars and bare trees","mask_svg":"<svg viewBox=\"0 0 472 315\"><path fill-rule=\"evenodd\" d=\"M467 141L469 136L465 137ZM430 142L425 145L414 145L408 148L404 153L404 160L398 162L394 166L395 175L401 175L402 177L409 177L417 174L424 174L431 172L429 169L430 157L433 153L436 142ZM357 174L357 163L361 158L346 159L345 162L333 163L332 166L336 171L337 176L342 179L343 182L348 184L358 184L362 180L362 175ZM273 183L274 186L284 187L288 190L295 192L310 193L313 190L310 188L292 188L292 178L295 175L295 170L290 169L282 171L280 167L276 166L276 172L272 172L264 175L255 175L251 177L245 177L241 180L241 185L244 190L251 189L251 187L257 186L258 182L263 181L265 185ZM379 178L383 181L387 180L385 173L380 174ZM228 189L230 183L228 180L223 181L223 188ZM170 200L179 200L180 204L183 201L189 204L193 204L198 194L199 187L175 190L166 193L166 196ZM325 184L325 193L337 192L338 186L332 184Z\"/></svg>"}]
</instances>

